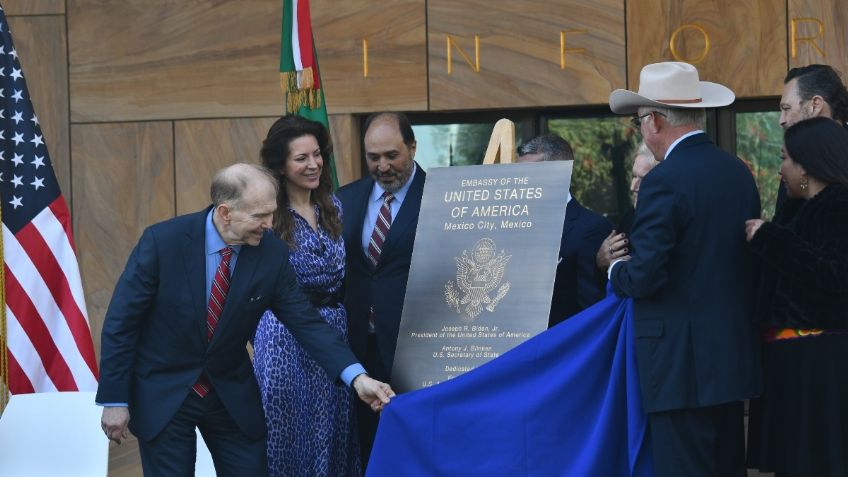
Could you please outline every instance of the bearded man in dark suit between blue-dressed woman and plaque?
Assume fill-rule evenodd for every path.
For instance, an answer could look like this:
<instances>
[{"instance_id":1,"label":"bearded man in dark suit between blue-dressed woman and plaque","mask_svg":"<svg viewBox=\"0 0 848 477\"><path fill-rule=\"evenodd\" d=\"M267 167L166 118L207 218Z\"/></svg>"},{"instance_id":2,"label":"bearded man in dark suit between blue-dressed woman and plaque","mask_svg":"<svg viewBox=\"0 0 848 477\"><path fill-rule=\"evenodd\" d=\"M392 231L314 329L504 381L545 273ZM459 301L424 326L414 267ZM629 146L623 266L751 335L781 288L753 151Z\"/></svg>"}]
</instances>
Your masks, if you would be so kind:
<instances>
[{"instance_id":1,"label":"bearded man in dark suit between blue-dressed woman and plaque","mask_svg":"<svg viewBox=\"0 0 848 477\"><path fill-rule=\"evenodd\" d=\"M370 116L364 142L369 176L338 191L348 262L344 304L351 349L372 376L388 381L426 174L414 161L415 135L405 115ZM362 405L357 415L367 463L377 416Z\"/></svg>"}]
</instances>

